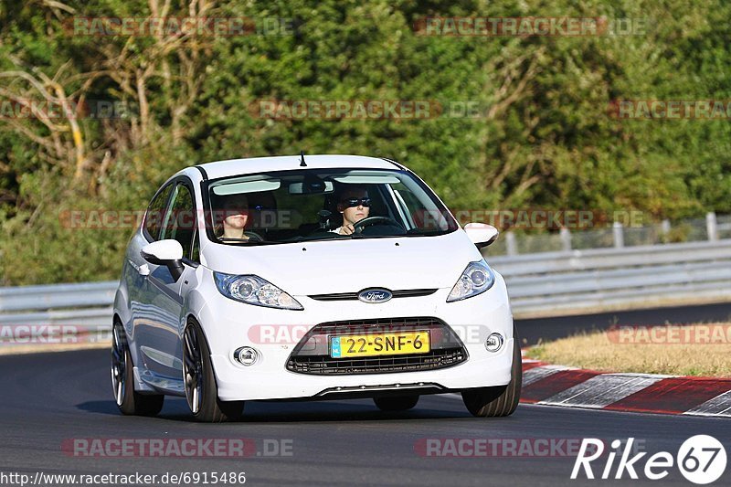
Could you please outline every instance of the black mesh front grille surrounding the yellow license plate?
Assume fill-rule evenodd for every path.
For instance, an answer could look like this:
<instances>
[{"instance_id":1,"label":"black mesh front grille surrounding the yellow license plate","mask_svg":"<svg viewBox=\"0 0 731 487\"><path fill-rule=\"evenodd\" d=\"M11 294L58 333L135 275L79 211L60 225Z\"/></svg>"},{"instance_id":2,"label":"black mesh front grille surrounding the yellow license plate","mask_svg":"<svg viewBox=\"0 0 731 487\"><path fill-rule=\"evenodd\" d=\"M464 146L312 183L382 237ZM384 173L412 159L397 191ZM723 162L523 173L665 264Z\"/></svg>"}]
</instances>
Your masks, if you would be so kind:
<instances>
[{"instance_id":1,"label":"black mesh front grille surrounding the yellow license plate","mask_svg":"<svg viewBox=\"0 0 731 487\"><path fill-rule=\"evenodd\" d=\"M393 333L428 330L431 350L426 354L333 358L330 337L357 333ZM307 333L287 360L287 369L299 374L345 376L435 370L461 364L467 350L459 337L437 318L388 318L321 323Z\"/></svg>"}]
</instances>

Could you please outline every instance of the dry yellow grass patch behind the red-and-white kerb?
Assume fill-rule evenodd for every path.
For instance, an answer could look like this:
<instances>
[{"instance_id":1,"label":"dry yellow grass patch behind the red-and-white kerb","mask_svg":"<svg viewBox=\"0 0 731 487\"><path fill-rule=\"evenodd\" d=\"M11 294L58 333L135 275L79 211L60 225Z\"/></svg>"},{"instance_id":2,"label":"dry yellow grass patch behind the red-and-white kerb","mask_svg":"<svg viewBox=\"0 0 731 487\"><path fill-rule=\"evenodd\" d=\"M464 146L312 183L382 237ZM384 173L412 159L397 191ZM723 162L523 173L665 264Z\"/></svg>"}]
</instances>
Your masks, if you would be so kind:
<instances>
[{"instance_id":1,"label":"dry yellow grass patch behind the red-and-white kerb","mask_svg":"<svg viewBox=\"0 0 731 487\"><path fill-rule=\"evenodd\" d=\"M580 333L538 344L526 357L608 372L731 377L731 323Z\"/></svg>"}]
</instances>

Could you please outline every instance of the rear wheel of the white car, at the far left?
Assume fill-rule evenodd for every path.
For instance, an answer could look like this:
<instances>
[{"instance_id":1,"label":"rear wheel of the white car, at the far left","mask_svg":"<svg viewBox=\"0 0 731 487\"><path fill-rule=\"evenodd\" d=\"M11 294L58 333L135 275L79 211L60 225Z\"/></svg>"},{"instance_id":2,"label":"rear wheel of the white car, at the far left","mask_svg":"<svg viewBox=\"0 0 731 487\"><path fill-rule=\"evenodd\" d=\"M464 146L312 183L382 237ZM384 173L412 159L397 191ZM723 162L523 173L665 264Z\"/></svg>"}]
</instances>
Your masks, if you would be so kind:
<instances>
[{"instance_id":1,"label":"rear wheel of the white car, at the far left","mask_svg":"<svg viewBox=\"0 0 731 487\"><path fill-rule=\"evenodd\" d=\"M163 408L164 395L134 390L132 354L122 323L115 321L111 332L111 389L117 408L125 415L155 416Z\"/></svg>"}]
</instances>

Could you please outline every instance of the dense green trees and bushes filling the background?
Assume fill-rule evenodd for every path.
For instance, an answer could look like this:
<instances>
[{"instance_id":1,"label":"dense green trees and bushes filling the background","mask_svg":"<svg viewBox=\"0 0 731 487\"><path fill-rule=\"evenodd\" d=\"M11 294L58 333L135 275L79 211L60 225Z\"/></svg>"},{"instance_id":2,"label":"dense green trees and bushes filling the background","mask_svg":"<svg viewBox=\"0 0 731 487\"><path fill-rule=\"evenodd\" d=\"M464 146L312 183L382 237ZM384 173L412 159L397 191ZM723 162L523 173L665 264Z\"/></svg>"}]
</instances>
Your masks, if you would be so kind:
<instances>
[{"instance_id":1,"label":"dense green trees and bushes filling the background","mask_svg":"<svg viewBox=\"0 0 731 487\"><path fill-rule=\"evenodd\" d=\"M726 2L209 2L194 14L284 18L292 29L275 36L69 35L76 17L154 16L156 4L0 5L0 102L43 101L30 77L48 96L59 87L71 101L83 96L124 108L120 118L79 118L79 139L64 118L48 125L0 117L3 284L118 275L130 229L65 228L63 211L139 210L186 165L301 150L395 158L454 209L639 210L656 220L731 212L727 119L609 114L617 100L731 98ZM169 16L189 15L187 2L172 5ZM414 30L426 16L649 23L634 36L434 37ZM482 116L268 120L251 110L261 100L471 102Z\"/></svg>"}]
</instances>

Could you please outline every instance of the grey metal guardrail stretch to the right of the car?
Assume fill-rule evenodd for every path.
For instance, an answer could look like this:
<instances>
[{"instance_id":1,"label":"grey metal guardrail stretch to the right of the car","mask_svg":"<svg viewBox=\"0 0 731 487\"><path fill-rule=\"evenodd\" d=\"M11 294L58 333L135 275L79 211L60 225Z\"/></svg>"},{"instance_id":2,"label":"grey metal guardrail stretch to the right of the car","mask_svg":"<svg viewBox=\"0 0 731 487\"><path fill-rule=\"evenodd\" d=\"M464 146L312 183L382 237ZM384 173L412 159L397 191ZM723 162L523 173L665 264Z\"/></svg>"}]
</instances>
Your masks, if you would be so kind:
<instances>
[{"instance_id":1,"label":"grey metal guardrail stretch to the right of the car","mask_svg":"<svg viewBox=\"0 0 731 487\"><path fill-rule=\"evenodd\" d=\"M515 316L731 301L731 239L486 259Z\"/></svg>"}]
</instances>

